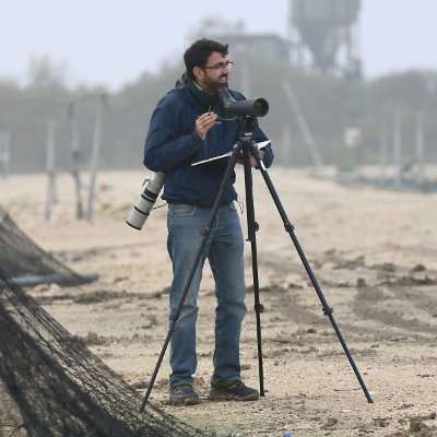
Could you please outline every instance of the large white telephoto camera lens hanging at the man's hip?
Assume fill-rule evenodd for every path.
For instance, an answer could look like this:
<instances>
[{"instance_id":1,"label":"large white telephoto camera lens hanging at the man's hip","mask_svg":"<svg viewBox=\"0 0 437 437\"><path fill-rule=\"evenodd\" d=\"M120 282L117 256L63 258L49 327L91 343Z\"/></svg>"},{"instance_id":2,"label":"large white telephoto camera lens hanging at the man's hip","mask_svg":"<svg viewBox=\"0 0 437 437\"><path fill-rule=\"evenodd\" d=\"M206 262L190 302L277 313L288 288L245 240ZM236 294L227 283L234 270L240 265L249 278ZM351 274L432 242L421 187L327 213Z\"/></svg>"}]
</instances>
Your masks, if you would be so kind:
<instances>
[{"instance_id":1,"label":"large white telephoto camera lens hanging at the man's hip","mask_svg":"<svg viewBox=\"0 0 437 437\"><path fill-rule=\"evenodd\" d=\"M137 231L141 231L145 221L149 218L151 210L156 202L156 199L165 182L165 174L156 172L152 178L145 178L143 186L147 184L144 191L141 193L140 199L130 211L126 223Z\"/></svg>"}]
</instances>

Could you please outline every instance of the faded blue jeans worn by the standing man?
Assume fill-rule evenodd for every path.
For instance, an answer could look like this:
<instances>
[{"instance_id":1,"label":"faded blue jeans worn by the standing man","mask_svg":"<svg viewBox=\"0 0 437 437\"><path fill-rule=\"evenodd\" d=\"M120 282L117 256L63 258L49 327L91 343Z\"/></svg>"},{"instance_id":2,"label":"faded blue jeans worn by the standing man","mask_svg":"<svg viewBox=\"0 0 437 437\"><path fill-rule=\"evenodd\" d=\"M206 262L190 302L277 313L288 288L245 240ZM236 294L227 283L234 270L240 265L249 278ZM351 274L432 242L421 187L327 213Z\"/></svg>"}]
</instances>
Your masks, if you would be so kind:
<instances>
[{"instance_id":1,"label":"faded blue jeans worn by the standing man","mask_svg":"<svg viewBox=\"0 0 437 437\"><path fill-rule=\"evenodd\" d=\"M169 204L167 248L173 262L170 311L174 312L199 250L211 209ZM240 378L239 339L246 315L244 238L234 203L220 206L205 248L170 339L170 385L192 383L197 368L196 320L202 269L209 260L215 282L215 351L213 379Z\"/></svg>"}]
</instances>

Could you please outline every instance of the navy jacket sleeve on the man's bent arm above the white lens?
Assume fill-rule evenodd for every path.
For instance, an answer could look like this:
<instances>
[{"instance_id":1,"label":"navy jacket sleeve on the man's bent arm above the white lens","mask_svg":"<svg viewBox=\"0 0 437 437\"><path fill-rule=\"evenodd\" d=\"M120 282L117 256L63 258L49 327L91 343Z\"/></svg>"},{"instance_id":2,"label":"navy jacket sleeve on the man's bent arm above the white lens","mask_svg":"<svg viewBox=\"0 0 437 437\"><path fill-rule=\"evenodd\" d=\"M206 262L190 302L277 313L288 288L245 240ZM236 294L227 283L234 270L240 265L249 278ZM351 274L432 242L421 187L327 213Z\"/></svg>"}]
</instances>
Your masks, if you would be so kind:
<instances>
[{"instance_id":1,"label":"navy jacket sleeve on the man's bent arm above the white lens","mask_svg":"<svg viewBox=\"0 0 437 437\"><path fill-rule=\"evenodd\" d=\"M203 140L194 130L184 133L179 106L167 94L153 111L144 144L144 165L153 172L165 173L180 165L203 145Z\"/></svg>"}]
</instances>

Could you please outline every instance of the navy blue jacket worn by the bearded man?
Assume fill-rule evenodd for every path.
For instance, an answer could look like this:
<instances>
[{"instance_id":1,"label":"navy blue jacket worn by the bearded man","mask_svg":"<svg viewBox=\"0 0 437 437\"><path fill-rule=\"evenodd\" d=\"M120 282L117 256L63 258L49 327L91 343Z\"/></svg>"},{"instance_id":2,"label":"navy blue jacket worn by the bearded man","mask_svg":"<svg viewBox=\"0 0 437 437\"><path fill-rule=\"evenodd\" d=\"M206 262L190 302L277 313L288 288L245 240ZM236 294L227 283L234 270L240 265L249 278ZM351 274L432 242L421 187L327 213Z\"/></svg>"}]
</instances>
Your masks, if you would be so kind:
<instances>
[{"instance_id":1,"label":"navy blue jacket worn by the bearded man","mask_svg":"<svg viewBox=\"0 0 437 437\"><path fill-rule=\"evenodd\" d=\"M191 164L232 151L237 141L237 126L234 121L218 121L208 131L203 141L196 132L196 119L206 110L214 110L218 117L225 114L217 97L215 107L208 108L205 101L197 98L199 95L193 88L192 82L191 86L176 87L158 102L145 139L144 165L153 172L166 174L162 198L167 202L210 208L217 197L227 162L216 160L193 167ZM237 101L245 99L240 93L231 93ZM260 128L256 128L252 139L260 142L265 141L267 137ZM272 161L273 152L269 145L263 157L265 167ZM237 199L234 182L235 173L232 185L223 193L222 204Z\"/></svg>"}]
</instances>

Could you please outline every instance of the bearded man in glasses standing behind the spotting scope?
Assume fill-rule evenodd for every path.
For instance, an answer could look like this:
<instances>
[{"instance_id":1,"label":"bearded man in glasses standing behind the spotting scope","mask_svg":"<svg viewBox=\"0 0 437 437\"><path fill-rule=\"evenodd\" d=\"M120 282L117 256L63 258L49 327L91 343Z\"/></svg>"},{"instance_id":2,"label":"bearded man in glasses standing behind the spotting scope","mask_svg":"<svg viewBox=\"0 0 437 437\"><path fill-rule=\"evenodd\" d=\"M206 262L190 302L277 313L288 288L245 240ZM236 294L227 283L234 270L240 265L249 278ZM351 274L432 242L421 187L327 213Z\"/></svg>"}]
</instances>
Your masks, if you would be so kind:
<instances>
[{"instance_id":1,"label":"bearded man in glasses standing behind the spotting scope","mask_svg":"<svg viewBox=\"0 0 437 437\"><path fill-rule=\"evenodd\" d=\"M168 202L167 248L174 274L169 297L172 312L187 283L202 240L201 232L206 227L226 168L220 160L215 164L214 161L198 166L191 164L229 152L237 141L236 123L218 120L224 116L224 108L217 88L227 85L232 67L226 56L227 45L209 39L198 40L186 50L187 83L160 101L145 140L144 165L166 174L163 199ZM237 101L245 99L237 92L231 93ZM259 128L252 138L257 142L267 140ZM270 166L273 161L270 146L261 151L261 155L264 165ZM253 157L251 164L256 164ZM197 368L197 297L205 259L213 272L217 300L210 398L252 401L259 397L258 391L247 387L240 377L239 339L246 314L246 286L244 238L234 205L236 199L231 184L221 199L202 259L172 335L169 401L173 404L199 403L192 376Z\"/></svg>"}]
</instances>

